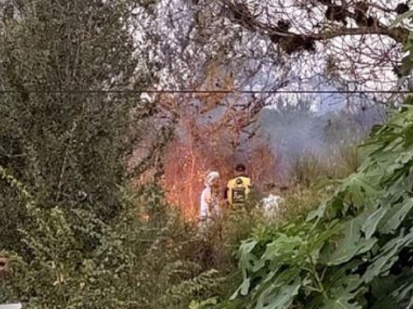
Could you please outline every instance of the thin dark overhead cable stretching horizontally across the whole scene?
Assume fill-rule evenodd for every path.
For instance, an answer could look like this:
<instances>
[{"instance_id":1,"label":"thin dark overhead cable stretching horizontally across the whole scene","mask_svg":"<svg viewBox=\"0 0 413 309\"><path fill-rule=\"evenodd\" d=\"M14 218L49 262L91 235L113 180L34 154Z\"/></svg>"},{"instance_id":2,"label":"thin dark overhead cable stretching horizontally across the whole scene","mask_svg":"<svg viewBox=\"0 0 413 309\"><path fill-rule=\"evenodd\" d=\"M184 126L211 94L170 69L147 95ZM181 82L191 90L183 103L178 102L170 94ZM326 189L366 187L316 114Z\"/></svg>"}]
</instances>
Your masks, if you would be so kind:
<instances>
[{"instance_id":1,"label":"thin dark overhead cable stretching horizontally across the whole scene","mask_svg":"<svg viewBox=\"0 0 413 309\"><path fill-rule=\"evenodd\" d=\"M0 94L7 93L36 93L36 94L98 94L98 93L120 93L120 94L413 94L413 90L116 90L116 89L51 89L51 90L0 90Z\"/></svg>"}]
</instances>

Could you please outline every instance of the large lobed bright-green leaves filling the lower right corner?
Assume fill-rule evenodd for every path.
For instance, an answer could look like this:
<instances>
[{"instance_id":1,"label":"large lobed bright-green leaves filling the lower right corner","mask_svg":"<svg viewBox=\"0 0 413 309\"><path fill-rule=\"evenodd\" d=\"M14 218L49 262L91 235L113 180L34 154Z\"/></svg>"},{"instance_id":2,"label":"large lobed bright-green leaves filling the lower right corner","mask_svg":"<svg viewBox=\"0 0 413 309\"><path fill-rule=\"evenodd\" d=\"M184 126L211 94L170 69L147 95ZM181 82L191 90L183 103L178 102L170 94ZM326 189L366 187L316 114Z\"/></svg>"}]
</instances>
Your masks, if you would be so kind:
<instances>
[{"instance_id":1,"label":"large lobed bright-green leaves filling the lower right corner","mask_svg":"<svg viewBox=\"0 0 413 309\"><path fill-rule=\"evenodd\" d=\"M405 106L306 222L258 227L239 248L242 284L220 308L412 308L412 132Z\"/></svg>"}]
</instances>

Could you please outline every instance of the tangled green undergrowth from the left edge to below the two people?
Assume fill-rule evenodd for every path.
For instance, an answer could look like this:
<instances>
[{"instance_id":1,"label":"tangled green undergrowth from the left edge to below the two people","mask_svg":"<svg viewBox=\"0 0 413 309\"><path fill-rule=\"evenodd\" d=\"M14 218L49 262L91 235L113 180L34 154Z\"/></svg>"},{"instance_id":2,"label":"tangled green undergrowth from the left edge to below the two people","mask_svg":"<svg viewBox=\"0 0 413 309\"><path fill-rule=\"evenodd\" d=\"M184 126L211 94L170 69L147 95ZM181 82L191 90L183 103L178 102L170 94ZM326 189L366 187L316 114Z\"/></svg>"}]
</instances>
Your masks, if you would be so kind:
<instances>
[{"instance_id":1,"label":"tangled green undergrowth from the left edge to below the two people","mask_svg":"<svg viewBox=\"0 0 413 309\"><path fill-rule=\"evenodd\" d=\"M225 209L201 234L156 186L121 188L124 211L110 224L85 209L42 209L24 184L2 170L27 204L32 224L19 229L27 255L0 254L11 276L1 280L0 302L26 308L204 308L228 299L243 278L236 251L257 230L303 220L327 194L296 185L274 219L246 207ZM29 257L29 258L28 258ZM92 304L92 305L91 305ZM96 304L96 305L93 305ZM103 306L103 307L102 307Z\"/></svg>"}]
</instances>

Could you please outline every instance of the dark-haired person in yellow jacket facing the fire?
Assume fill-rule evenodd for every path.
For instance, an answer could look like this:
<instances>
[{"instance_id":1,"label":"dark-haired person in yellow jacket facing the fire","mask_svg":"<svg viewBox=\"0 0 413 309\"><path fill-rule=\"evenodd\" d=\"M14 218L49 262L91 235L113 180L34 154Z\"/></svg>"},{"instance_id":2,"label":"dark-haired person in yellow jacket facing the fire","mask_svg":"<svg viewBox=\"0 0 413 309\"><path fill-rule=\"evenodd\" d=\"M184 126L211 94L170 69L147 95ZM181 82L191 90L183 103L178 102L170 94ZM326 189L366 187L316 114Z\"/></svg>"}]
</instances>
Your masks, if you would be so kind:
<instances>
[{"instance_id":1,"label":"dark-haired person in yellow jacket facing the fire","mask_svg":"<svg viewBox=\"0 0 413 309\"><path fill-rule=\"evenodd\" d=\"M253 184L251 178L245 172L245 165L237 164L235 167L235 177L230 179L224 190L224 200L230 206L242 206L251 193Z\"/></svg>"}]
</instances>

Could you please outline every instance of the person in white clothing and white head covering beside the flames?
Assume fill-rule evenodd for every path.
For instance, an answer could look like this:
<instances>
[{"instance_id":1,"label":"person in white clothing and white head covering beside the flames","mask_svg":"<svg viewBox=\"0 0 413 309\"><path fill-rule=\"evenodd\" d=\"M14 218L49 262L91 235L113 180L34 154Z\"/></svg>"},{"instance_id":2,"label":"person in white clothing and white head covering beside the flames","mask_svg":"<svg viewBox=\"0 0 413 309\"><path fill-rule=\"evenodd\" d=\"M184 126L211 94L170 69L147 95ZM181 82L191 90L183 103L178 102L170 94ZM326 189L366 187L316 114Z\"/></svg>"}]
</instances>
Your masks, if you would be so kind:
<instances>
[{"instance_id":1,"label":"person in white clothing and white head covering beside the flames","mask_svg":"<svg viewBox=\"0 0 413 309\"><path fill-rule=\"evenodd\" d=\"M210 223L211 220L220 214L220 205L218 200L219 178L220 174L218 172L210 172L206 175L205 187L202 190L200 201L200 225Z\"/></svg>"}]
</instances>

